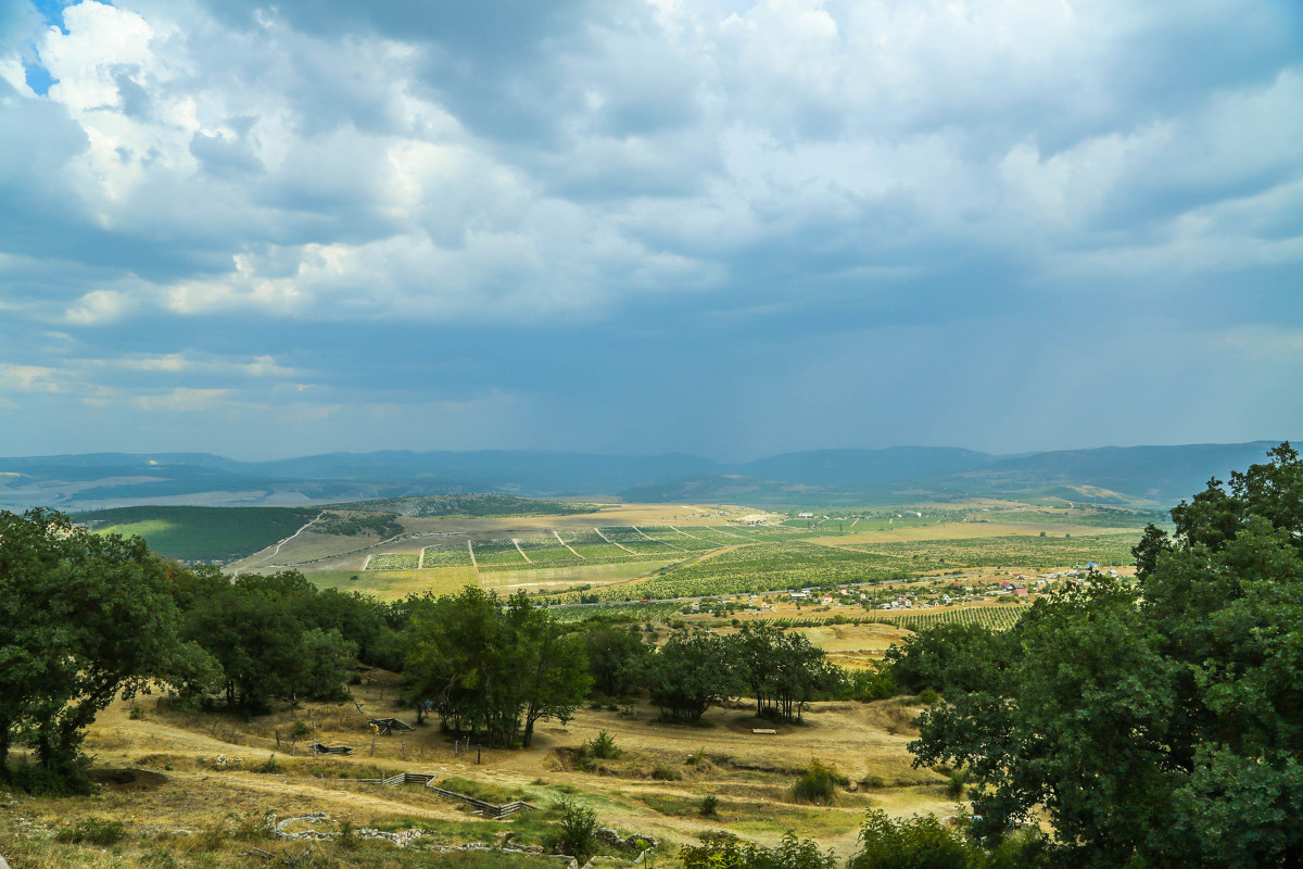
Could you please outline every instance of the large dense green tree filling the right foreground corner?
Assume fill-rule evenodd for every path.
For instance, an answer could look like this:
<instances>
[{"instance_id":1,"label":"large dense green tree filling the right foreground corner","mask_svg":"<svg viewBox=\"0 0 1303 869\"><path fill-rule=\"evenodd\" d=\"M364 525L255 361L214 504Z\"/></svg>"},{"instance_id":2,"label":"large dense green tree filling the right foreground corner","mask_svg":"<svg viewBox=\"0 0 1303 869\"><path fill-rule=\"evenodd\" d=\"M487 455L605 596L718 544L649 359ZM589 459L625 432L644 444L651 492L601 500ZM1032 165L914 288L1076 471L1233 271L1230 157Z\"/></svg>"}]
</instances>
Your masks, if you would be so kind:
<instances>
[{"instance_id":1,"label":"large dense green tree filling the right foreground corner","mask_svg":"<svg viewBox=\"0 0 1303 869\"><path fill-rule=\"evenodd\" d=\"M976 833L1044 812L1065 866L1303 865L1303 465L1213 481L1147 530L1138 582L1037 601L919 763L969 766Z\"/></svg>"}]
</instances>

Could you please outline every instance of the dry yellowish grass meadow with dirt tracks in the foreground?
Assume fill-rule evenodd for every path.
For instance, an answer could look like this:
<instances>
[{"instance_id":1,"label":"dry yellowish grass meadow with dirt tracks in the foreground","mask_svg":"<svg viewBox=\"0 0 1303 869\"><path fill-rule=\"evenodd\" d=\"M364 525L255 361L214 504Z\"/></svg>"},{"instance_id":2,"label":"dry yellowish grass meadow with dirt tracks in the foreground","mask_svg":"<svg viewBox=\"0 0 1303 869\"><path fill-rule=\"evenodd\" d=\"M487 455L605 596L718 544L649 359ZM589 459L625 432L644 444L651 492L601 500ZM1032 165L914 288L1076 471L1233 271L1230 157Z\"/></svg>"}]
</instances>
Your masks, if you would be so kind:
<instances>
[{"instance_id":1,"label":"dry yellowish grass meadow with dirt tracks in the foreground","mask_svg":"<svg viewBox=\"0 0 1303 869\"><path fill-rule=\"evenodd\" d=\"M898 636L886 625L839 627L817 638L830 651L864 651ZM893 814L955 812L947 779L911 767L906 743L919 707L898 700L874 704L816 704L803 724L771 727L754 718L745 701L711 709L705 726L657 722L655 710L581 709L564 727L543 722L534 745L524 750L483 749L455 753L430 723L401 736L377 736L369 717L399 717L399 679L373 671L353 685L352 702L309 704L245 720L235 715L168 711L156 697L117 701L90 731L87 750L102 778L100 792L86 797L9 796L0 804L0 855L13 869L63 866L250 866L272 865L262 848L293 859L311 847L304 866L425 865L420 847L362 840L283 843L265 836L266 813L280 819L324 813L314 829L422 829L418 844L494 843L511 833L521 844L538 844L563 797L597 812L598 822L628 834L650 834L662 846L654 861L674 865L678 847L708 830L730 830L775 843L787 830L812 836L838 855L855 848L865 809ZM136 707L133 717L132 707ZM296 723L308 736L291 740ZM624 754L576 767L576 749L599 731L612 734ZM278 745L279 736L279 745ZM349 745L352 757L311 757L311 740ZM373 748L374 745L374 748ZM792 801L790 787L817 760L846 776L833 805ZM478 762L477 762L478 761ZM580 763L584 766L584 763ZM503 803L525 799L538 812L502 821L483 819L469 808L414 784L382 787L352 779L421 771L450 790L474 790ZM706 795L719 800L718 817L704 818ZM90 821L119 821L120 840L111 844L59 842ZM294 829L302 829L302 825ZM474 862L481 860L482 862ZM555 859L526 855L440 853L440 864L468 866L551 865ZM612 864L616 865L616 864ZM627 865L627 864L625 864Z\"/></svg>"}]
</instances>

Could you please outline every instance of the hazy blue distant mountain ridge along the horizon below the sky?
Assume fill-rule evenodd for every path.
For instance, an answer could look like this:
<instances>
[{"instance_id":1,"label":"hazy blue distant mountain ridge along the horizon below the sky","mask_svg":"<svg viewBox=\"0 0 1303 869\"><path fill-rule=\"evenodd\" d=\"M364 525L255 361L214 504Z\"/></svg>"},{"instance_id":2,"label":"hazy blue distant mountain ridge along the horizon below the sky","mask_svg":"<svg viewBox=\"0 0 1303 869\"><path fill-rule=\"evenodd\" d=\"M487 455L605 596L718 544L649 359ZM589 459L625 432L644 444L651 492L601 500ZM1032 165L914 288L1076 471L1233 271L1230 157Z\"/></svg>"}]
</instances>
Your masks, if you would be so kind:
<instances>
[{"instance_id":1,"label":"hazy blue distant mountain ridge along the horizon below the sky","mask_svg":"<svg viewBox=\"0 0 1303 869\"><path fill-rule=\"evenodd\" d=\"M245 463L211 453L0 459L0 507L306 506L498 492L532 498L869 504L998 496L1162 506L1264 461L1273 440L993 456L956 447L813 449L727 464L700 456L485 449L326 453Z\"/></svg>"}]
</instances>

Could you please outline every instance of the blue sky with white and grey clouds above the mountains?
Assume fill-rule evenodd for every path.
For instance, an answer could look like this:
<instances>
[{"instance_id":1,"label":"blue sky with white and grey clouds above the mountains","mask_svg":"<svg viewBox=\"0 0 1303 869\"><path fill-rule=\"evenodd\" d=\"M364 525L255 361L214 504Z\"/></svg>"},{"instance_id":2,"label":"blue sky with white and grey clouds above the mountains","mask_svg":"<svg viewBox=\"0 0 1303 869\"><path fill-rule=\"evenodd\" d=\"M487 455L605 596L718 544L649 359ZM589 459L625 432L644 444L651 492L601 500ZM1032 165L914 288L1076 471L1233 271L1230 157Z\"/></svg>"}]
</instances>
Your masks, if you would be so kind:
<instances>
[{"instance_id":1,"label":"blue sky with white and grey clouds above the mountains","mask_svg":"<svg viewBox=\"0 0 1303 869\"><path fill-rule=\"evenodd\" d=\"M0 455L1303 436L1296 0L0 0Z\"/></svg>"}]
</instances>

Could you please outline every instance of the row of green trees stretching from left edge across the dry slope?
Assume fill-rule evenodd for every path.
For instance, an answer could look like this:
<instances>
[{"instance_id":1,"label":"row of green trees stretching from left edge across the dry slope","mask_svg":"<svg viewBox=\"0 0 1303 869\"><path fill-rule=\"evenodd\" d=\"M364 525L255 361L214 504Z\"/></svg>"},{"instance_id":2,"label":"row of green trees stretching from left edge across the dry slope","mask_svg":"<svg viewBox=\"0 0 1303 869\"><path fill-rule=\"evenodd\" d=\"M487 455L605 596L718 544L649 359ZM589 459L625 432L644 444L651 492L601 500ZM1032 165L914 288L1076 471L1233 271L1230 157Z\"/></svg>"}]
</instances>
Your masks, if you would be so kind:
<instances>
[{"instance_id":1,"label":"row of green trees stretching from left edge across the dry slope","mask_svg":"<svg viewBox=\"0 0 1303 869\"><path fill-rule=\"evenodd\" d=\"M85 728L120 694L162 685L184 705L262 714L343 698L358 663L401 672L418 720L429 711L493 745L528 747L538 720L564 722L593 697L645 693L666 718L693 720L745 694L758 714L800 719L855 689L778 628L654 638L650 625L559 624L524 594L477 586L386 603L297 571L232 577L55 511L0 511L0 775L23 744L47 784L85 786Z\"/></svg>"}]
</instances>

